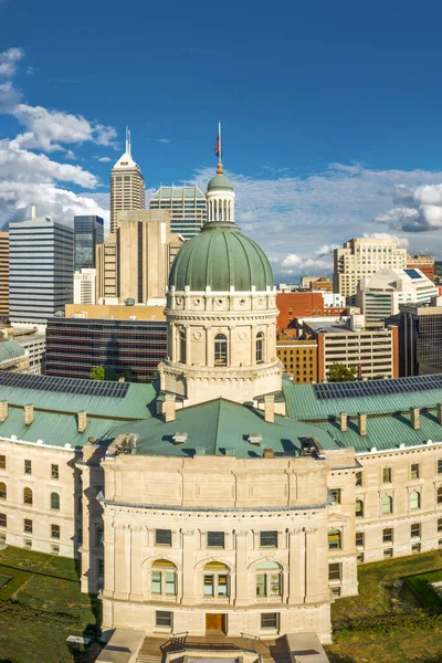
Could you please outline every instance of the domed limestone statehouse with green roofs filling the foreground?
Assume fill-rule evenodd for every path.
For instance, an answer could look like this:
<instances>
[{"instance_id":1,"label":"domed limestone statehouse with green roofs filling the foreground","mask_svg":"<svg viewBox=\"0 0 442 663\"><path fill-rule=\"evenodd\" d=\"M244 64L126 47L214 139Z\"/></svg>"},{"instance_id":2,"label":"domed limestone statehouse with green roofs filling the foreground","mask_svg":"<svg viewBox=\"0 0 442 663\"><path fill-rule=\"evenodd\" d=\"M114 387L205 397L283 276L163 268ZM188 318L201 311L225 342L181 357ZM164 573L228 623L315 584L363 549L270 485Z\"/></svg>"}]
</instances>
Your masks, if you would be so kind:
<instances>
[{"instance_id":1,"label":"domed limestone statehouse with green roofs filling the foreground","mask_svg":"<svg viewBox=\"0 0 442 663\"><path fill-rule=\"evenodd\" d=\"M182 632L329 642L358 562L442 547L442 377L283 379L270 263L221 165L208 189L157 381L0 372L1 540L80 558L156 660Z\"/></svg>"}]
</instances>

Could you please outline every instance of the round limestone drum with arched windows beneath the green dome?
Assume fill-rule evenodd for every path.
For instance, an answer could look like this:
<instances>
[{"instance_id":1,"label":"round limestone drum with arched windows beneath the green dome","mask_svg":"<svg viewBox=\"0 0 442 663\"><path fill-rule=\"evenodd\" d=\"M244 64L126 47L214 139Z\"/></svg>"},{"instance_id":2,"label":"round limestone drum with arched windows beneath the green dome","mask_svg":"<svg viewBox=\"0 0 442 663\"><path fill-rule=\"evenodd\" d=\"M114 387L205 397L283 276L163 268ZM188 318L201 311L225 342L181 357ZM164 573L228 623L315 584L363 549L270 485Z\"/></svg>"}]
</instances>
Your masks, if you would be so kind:
<instances>
[{"instance_id":1,"label":"round limestone drum with arched windows beneath the green dome","mask_svg":"<svg viewBox=\"0 0 442 663\"><path fill-rule=\"evenodd\" d=\"M280 391L283 365L276 356L276 294L171 288L165 311L168 357L158 367L161 389L186 406L229 398L253 403Z\"/></svg>"}]
</instances>

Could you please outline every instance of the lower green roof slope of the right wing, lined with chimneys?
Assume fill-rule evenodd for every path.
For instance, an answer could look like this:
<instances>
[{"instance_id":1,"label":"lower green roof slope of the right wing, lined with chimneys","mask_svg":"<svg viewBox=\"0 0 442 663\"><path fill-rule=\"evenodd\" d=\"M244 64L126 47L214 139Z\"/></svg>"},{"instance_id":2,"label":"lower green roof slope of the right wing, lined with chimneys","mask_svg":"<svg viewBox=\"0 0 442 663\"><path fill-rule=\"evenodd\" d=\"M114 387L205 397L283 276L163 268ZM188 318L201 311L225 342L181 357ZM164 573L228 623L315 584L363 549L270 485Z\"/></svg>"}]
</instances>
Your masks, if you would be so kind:
<instances>
[{"instance_id":1,"label":"lower green roof slope of the right wing, lined with chimneys","mask_svg":"<svg viewBox=\"0 0 442 663\"><path fill-rule=\"evenodd\" d=\"M406 446L427 444L428 440L442 441L442 425L431 412L421 412L420 430L411 425L409 414L397 414L386 417L367 418L367 435L360 436L358 421L348 420L347 431L339 430L339 421L328 421L315 424L327 431L339 444L339 446L352 446L357 453L377 451L389 451Z\"/></svg>"}]
</instances>

